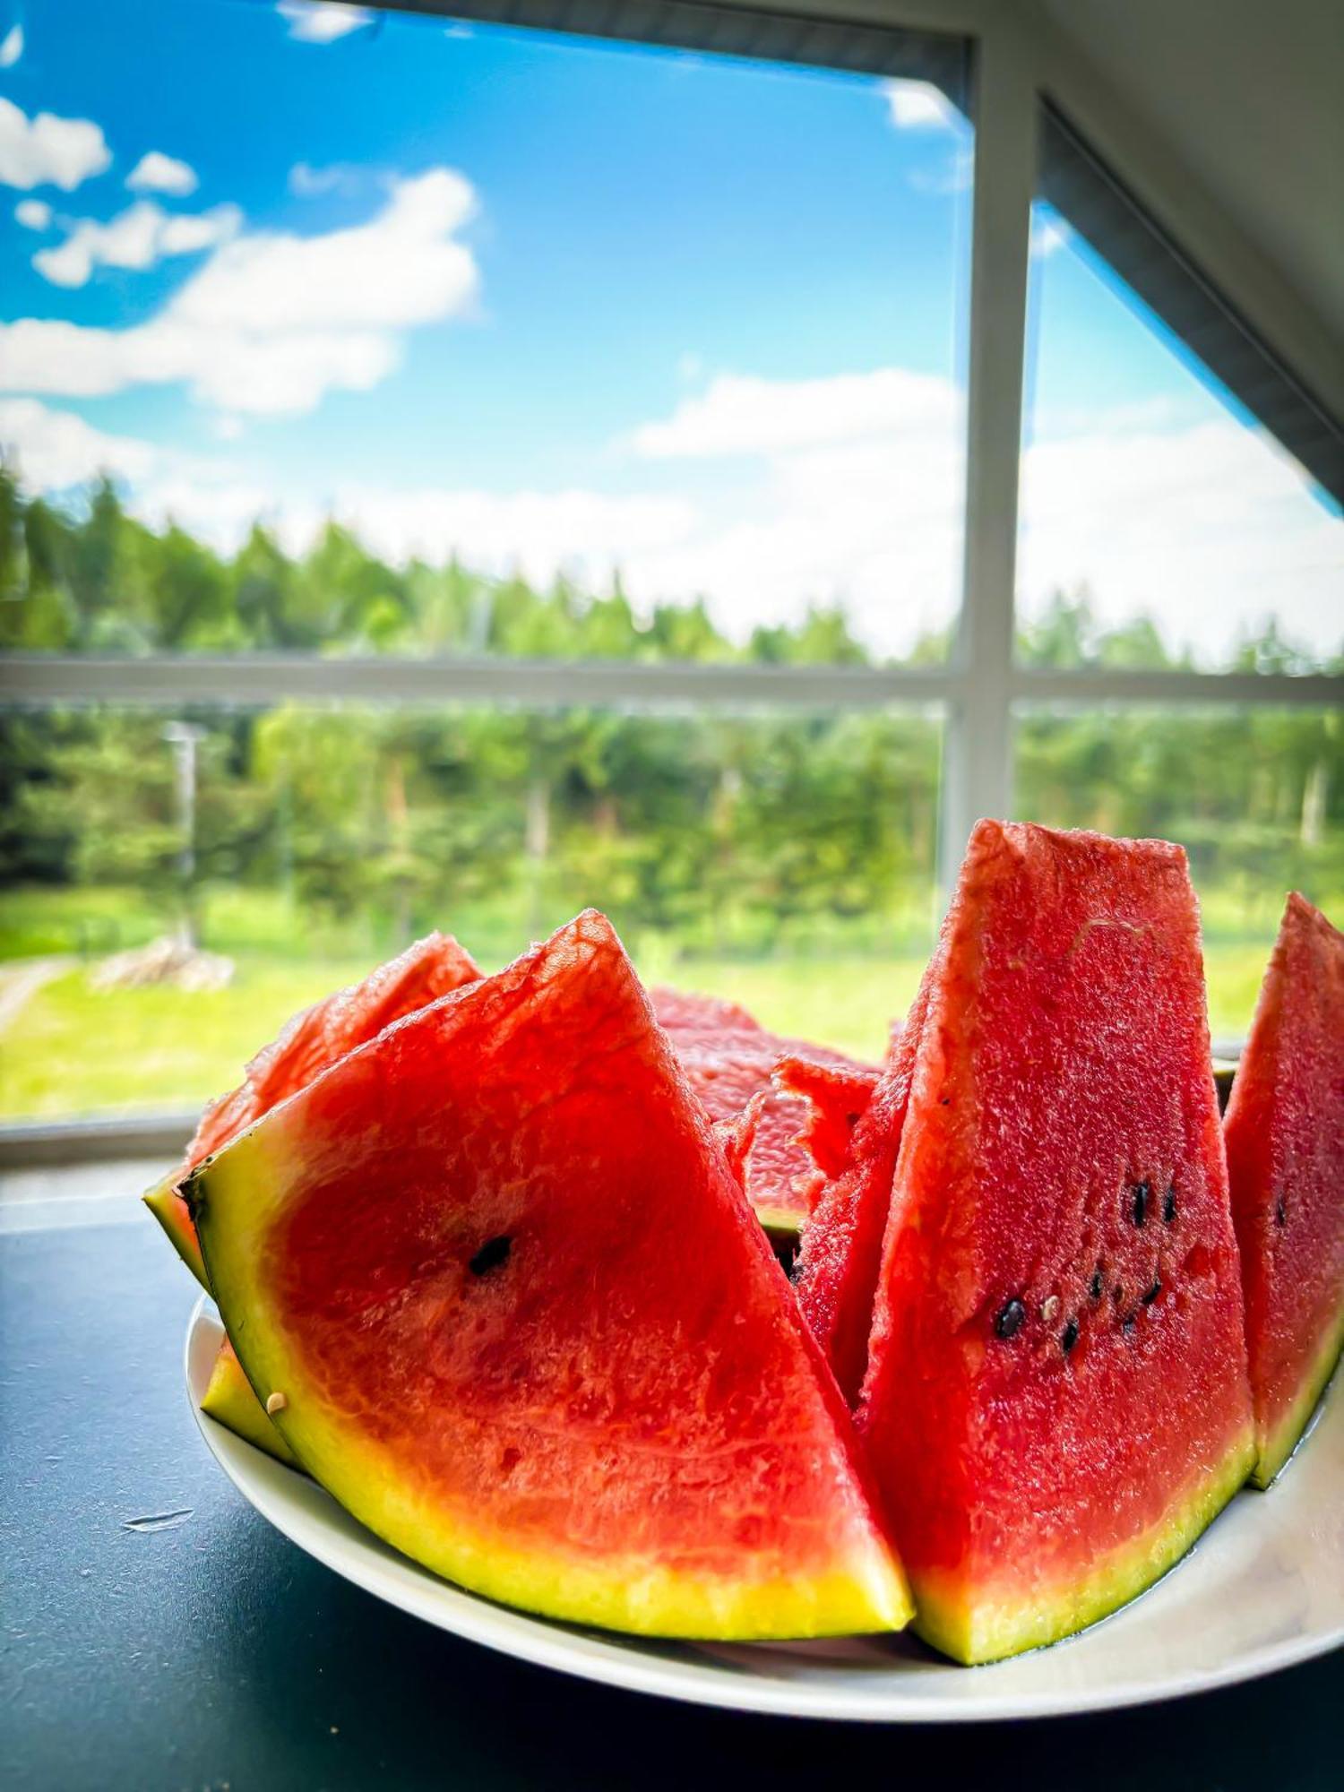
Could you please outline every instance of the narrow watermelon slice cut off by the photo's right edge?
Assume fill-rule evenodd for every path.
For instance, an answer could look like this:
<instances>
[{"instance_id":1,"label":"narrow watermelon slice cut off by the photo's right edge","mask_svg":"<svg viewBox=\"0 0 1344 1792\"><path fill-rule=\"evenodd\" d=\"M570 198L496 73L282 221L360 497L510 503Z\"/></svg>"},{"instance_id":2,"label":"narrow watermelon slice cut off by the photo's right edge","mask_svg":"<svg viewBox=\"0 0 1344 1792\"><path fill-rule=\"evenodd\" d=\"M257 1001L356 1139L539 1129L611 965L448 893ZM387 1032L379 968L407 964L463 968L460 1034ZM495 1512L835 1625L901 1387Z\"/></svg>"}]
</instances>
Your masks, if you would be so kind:
<instances>
[{"instance_id":1,"label":"narrow watermelon slice cut off by the photo's right edge","mask_svg":"<svg viewBox=\"0 0 1344 1792\"><path fill-rule=\"evenodd\" d=\"M1267 1487L1344 1344L1344 934L1296 892L1224 1138L1260 1452L1253 1478Z\"/></svg>"}]
</instances>

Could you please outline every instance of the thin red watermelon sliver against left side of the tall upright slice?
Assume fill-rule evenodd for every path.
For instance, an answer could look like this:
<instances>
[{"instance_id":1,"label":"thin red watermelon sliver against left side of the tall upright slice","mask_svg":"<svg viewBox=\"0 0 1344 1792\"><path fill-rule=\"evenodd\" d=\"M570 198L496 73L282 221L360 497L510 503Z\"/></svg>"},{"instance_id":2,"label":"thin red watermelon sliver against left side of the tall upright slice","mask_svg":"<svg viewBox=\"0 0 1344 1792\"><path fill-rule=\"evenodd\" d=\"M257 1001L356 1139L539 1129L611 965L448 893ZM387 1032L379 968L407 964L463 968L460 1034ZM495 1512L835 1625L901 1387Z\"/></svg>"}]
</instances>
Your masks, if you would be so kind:
<instances>
[{"instance_id":1,"label":"thin red watermelon sliver against left side of the tall upright slice","mask_svg":"<svg viewBox=\"0 0 1344 1792\"><path fill-rule=\"evenodd\" d=\"M826 1360L849 1405L858 1400L867 1367L867 1335L873 1324L882 1238L930 975L932 966L919 986L910 1018L892 1041L876 1091L853 1127L844 1159L837 1161L835 1156L828 1159L831 1179L817 1193L799 1242L794 1271L797 1305L812 1335L826 1351ZM831 1127L831 1138L835 1136ZM814 1154L815 1150L814 1145ZM817 1161L821 1163L821 1156Z\"/></svg>"}]
</instances>

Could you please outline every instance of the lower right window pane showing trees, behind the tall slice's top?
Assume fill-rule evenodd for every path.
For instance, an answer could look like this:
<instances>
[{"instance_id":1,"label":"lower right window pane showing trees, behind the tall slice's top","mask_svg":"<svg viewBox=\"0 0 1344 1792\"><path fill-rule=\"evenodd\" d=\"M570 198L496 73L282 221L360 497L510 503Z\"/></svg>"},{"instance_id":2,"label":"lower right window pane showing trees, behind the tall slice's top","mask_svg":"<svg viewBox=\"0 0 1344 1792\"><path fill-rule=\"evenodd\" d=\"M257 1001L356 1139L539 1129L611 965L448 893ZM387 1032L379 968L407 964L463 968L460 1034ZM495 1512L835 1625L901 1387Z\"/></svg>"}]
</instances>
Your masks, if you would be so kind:
<instances>
[{"instance_id":1,"label":"lower right window pane showing trees, behind the tall slice's top","mask_svg":"<svg viewBox=\"0 0 1344 1792\"><path fill-rule=\"evenodd\" d=\"M1215 1038L1245 1036L1290 889L1344 921L1337 710L1025 708L1016 806L1059 828L1185 846Z\"/></svg>"}]
</instances>

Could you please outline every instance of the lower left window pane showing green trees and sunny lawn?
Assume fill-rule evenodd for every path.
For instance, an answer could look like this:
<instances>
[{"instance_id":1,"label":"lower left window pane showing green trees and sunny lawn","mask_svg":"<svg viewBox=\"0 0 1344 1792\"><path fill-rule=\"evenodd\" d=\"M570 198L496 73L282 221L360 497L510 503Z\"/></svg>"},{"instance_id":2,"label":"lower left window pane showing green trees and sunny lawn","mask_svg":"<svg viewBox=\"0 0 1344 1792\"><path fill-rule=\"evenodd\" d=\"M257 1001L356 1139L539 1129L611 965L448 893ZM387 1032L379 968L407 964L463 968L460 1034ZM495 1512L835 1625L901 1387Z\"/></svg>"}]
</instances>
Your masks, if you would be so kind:
<instances>
[{"instance_id":1,"label":"lower left window pane showing green trees and sunny lawn","mask_svg":"<svg viewBox=\"0 0 1344 1792\"><path fill-rule=\"evenodd\" d=\"M935 715L70 710L0 747L0 1118L201 1102L435 926L495 968L593 903L647 980L867 1059L932 943ZM143 950L183 928L185 986Z\"/></svg>"}]
</instances>

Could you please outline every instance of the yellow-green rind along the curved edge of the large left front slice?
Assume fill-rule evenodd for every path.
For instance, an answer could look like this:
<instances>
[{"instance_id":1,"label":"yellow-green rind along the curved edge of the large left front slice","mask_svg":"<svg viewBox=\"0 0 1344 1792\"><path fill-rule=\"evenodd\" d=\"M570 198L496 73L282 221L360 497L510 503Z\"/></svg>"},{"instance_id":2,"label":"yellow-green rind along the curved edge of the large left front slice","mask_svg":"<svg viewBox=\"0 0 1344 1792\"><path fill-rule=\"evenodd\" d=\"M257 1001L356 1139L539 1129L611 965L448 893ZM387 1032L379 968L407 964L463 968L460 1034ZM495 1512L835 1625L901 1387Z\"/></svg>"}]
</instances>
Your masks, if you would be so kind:
<instances>
[{"instance_id":1,"label":"yellow-green rind along the curved edge of the large left front slice","mask_svg":"<svg viewBox=\"0 0 1344 1792\"><path fill-rule=\"evenodd\" d=\"M186 1190L215 1301L258 1400L285 1394L274 1425L297 1462L385 1543L500 1604L642 1636L769 1641L900 1631L910 1620L905 1581L876 1536L821 1575L711 1581L652 1559L521 1550L435 1505L387 1450L342 1423L272 1314L267 1233L303 1159L303 1142L276 1109Z\"/></svg>"}]
</instances>

